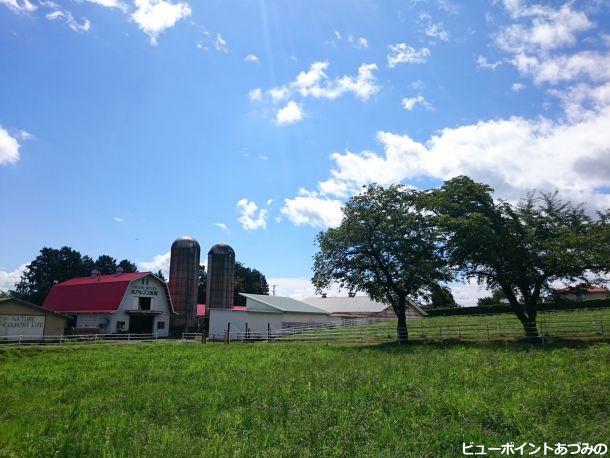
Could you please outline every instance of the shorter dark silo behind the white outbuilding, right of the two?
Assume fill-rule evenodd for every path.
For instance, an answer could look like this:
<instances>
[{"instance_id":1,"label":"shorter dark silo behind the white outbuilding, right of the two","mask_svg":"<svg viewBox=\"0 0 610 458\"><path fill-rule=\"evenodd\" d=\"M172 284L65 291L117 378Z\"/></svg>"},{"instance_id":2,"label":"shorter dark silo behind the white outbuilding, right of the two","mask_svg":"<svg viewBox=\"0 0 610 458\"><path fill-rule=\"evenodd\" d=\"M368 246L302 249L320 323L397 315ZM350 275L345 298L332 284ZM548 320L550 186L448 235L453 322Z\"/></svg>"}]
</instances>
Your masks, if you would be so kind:
<instances>
[{"instance_id":1,"label":"shorter dark silo behind the white outbuilding, right of the two","mask_svg":"<svg viewBox=\"0 0 610 458\"><path fill-rule=\"evenodd\" d=\"M208 308L233 307L235 290L235 251L229 245L219 243L208 252L208 284L206 302Z\"/></svg>"}]
</instances>

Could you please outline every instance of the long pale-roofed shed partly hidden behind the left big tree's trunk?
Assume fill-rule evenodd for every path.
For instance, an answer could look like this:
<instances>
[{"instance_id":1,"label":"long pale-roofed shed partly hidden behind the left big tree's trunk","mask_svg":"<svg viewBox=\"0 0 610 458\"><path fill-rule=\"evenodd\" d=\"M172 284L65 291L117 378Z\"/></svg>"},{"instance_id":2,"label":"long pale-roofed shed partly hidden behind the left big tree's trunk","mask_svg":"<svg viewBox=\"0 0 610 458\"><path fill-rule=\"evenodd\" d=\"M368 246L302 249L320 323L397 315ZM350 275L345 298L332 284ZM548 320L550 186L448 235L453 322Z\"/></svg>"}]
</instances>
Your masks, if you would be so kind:
<instances>
[{"instance_id":1,"label":"long pale-roofed shed partly hidden behind the left big tree's trunk","mask_svg":"<svg viewBox=\"0 0 610 458\"><path fill-rule=\"evenodd\" d=\"M391 305L377 302L368 296L312 296L303 302L326 310L338 318L396 318ZM407 299L407 319L426 316L427 313L411 299Z\"/></svg>"}]
</instances>

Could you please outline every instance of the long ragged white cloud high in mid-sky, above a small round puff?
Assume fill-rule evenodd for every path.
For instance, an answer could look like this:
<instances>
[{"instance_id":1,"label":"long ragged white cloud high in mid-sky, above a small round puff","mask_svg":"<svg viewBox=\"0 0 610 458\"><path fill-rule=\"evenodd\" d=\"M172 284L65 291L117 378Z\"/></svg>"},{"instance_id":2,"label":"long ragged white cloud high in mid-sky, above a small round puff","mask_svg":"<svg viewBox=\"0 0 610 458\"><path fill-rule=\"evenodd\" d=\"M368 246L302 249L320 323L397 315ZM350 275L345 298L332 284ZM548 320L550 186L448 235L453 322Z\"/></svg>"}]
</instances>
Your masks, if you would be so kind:
<instances>
[{"instance_id":1,"label":"long ragged white cloud high in mid-sky, above a small round puff","mask_svg":"<svg viewBox=\"0 0 610 458\"><path fill-rule=\"evenodd\" d=\"M380 86L376 84L374 71L375 64L362 64L356 76L344 75L330 79L326 74L329 63L325 61L314 62L308 70L301 71L294 81L283 86L271 88L265 92L258 89L250 91L250 99L269 100L279 103L290 97L311 97L334 100L344 94L352 93L361 100L367 100L376 94Z\"/></svg>"}]
</instances>

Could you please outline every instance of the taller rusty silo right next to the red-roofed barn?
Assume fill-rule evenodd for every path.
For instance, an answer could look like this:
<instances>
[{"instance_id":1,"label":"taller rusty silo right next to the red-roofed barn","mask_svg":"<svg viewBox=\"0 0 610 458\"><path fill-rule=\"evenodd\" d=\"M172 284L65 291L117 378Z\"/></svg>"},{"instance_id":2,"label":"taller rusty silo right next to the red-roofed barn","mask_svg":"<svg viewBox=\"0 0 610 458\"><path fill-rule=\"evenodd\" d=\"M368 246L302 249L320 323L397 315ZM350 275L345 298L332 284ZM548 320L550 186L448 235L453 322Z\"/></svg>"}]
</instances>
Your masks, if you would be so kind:
<instances>
[{"instance_id":1,"label":"taller rusty silo right next to the red-roofed barn","mask_svg":"<svg viewBox=\"0 0 610 458\"><path fill-rule=\"evenodd\" d=\"M196 327L197 283L201 247L192 237L180 237L172 243L169 265L169 292L177 315L172 320L174 332Z\"/></svg>"}]
</instances>

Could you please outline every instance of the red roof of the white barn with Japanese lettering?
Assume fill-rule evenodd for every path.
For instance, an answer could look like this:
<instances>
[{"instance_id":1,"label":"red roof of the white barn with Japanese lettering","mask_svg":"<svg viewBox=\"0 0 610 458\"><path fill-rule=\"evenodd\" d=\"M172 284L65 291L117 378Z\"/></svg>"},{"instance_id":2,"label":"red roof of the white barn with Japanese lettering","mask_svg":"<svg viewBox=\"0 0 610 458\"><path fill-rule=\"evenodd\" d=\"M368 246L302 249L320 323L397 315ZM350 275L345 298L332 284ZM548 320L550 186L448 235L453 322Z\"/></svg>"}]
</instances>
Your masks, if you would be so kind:
<instances>
[{"instance_id":1,"label":"red roof of the white barn with Japanese lettering","mask_svg":"<svg viewBox=\"0 0 610 458\"><path fill-rule=\"evenodd\" d=\"M129 284L147 275L151 273L73 278L54 285L42 307L59 313L114 312L119 308Z\"/></svg>"}]
</instances>

